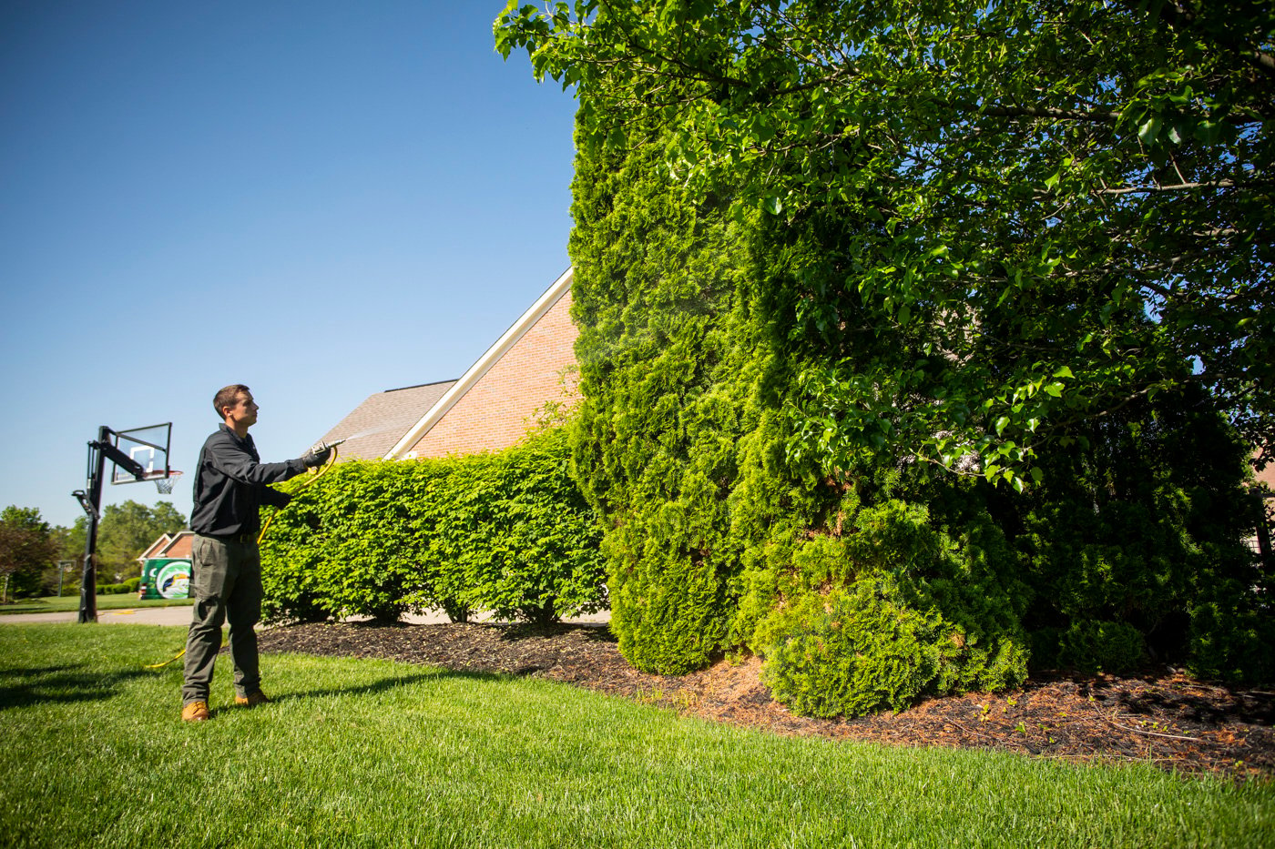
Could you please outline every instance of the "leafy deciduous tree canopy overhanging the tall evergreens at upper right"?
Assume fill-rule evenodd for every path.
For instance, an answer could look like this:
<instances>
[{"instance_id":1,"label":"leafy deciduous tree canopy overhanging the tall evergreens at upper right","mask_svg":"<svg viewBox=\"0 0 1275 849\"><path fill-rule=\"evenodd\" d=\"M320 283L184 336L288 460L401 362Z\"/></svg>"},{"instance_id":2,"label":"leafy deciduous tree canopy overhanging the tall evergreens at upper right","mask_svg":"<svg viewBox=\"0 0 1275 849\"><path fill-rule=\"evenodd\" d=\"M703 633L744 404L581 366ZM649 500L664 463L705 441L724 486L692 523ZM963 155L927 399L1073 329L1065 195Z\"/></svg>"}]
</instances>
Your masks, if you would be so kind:
<instances>
[{"instance_id":1,"label":"leafy deciduous tree canopy overhanging the tall evergreens at upper right","mask_svg":"<svg viewBox=\"0 0 1275 849\"><path fill-rule=\"evenodd\" d=\"M790 459L1021 488L1167 393L1275 454L1272 32L1261 0L576 0L496 45L576 87L585 149L654 113L669 180L820 246L780 282L817 349Z\"/></svg>"}]
</instances>

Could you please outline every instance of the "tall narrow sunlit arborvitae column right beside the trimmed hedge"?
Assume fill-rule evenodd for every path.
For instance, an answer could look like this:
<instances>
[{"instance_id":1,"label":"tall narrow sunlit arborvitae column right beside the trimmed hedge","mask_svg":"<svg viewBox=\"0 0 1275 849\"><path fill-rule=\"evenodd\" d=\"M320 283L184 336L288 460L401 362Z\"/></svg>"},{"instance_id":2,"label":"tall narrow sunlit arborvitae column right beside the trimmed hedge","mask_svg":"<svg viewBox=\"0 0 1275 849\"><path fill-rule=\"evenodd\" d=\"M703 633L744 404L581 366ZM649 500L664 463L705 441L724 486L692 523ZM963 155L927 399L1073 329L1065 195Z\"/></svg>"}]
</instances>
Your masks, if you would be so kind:
<instances>
[{"instance_id":1,"label":"tall narrow sunlit arborvitae column right beside the trimmed hedge","mask_svg":"<svg viewBox=\"0 0 1275 849\"><path fill-rule=\"evenodd\" d=\"M738 351L728 328L741 242L720 204L685 203L654 163L581 153L574 184L572 319L584 402L574 469L606 515L611 628L648 672L677 674L722 650L738 556L727 498Z\"/></svg>"}]
</instances>

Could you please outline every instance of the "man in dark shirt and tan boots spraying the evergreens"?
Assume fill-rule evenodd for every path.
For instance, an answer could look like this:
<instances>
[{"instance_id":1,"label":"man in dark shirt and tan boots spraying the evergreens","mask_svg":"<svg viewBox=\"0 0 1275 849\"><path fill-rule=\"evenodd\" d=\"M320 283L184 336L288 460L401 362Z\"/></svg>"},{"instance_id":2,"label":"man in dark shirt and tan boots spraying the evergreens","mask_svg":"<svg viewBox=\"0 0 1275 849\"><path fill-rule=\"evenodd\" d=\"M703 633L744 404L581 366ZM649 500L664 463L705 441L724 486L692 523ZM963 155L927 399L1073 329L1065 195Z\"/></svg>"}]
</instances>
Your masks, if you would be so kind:
<instances>
[{"instance_id":1,"label":"man in dark shirt and tan boots spraying the evergreens","mask_svg":"<svg viewBox=\"0 0 1275 849\"><path fill-rule=\"evenodd\" d=\"M195 599L186 635L185 681L181 718L209 718L208 691L213 663L222 648L222 623L231 623L231 659L235 662L235 704L247 708L269 701L261 692L256 631L261 618L261 558L256 548L261 520L259 507L282 507L289 496L270 483L287 481L307 468L323 465L332 449L323 445L296 460L261 463L247 428L256 424L256 402L242 384L221 389L213 407L222 426L199 453L195 472L195 509L190 529L190 594Z\"/></svg>"}]
</instances>

